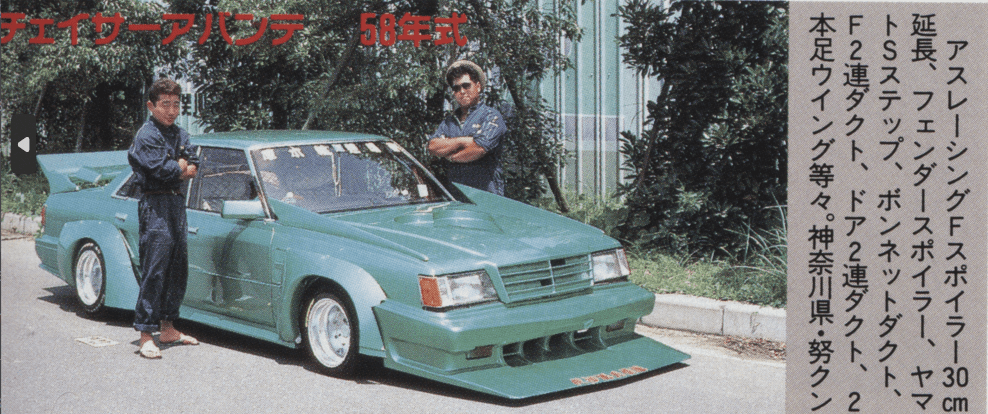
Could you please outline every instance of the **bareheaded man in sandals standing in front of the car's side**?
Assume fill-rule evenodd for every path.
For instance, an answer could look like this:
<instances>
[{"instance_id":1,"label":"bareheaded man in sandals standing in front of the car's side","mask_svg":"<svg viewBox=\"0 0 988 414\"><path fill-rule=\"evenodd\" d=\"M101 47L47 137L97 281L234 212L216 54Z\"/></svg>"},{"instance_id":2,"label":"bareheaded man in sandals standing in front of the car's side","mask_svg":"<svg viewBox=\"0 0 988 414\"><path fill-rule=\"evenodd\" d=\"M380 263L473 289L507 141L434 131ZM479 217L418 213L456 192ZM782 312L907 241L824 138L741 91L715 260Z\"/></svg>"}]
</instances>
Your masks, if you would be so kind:
<instances>
[{"instance_id":1,"label":"bareheaded man in sandals standing in front of the car's side","mask_svg":"<svg viewBox=\"0 0 988 414\"><path fill-rule=\"evenodd\" d=\"M161 358L152 336L159 329L162 343L199 344L172 324L178 319L189 276L182 185L196 175L199 165L188 132L175 125L181 94L182 87L171 79L151 85L147 102L151 117L127 152L134 185L142 189L138 203L142 279L134 329L141 332L140 353L145 358Z\"/></svg>"}]
</instances>

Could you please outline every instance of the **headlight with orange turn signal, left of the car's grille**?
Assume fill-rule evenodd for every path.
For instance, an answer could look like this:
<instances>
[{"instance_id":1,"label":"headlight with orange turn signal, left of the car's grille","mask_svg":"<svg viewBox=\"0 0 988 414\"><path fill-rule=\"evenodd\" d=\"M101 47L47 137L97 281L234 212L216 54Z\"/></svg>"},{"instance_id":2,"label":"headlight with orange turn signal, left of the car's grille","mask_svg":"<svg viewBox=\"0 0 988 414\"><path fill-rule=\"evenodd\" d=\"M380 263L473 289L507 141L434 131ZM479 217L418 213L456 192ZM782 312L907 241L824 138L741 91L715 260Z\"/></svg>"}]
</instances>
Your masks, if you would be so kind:
<instances>
[{"instance_id":1,"label":"headlight with orange turn signal, left of the car's grille","mask_svg":"<svg viewBox=\"0 0 988 414\"><path fill-rule=\"evenodd\" d=\"M487 272L457 273L443 276L419 275L422 305L445 309L497 300L497 291Z\"/></svg>"}]
</instances>

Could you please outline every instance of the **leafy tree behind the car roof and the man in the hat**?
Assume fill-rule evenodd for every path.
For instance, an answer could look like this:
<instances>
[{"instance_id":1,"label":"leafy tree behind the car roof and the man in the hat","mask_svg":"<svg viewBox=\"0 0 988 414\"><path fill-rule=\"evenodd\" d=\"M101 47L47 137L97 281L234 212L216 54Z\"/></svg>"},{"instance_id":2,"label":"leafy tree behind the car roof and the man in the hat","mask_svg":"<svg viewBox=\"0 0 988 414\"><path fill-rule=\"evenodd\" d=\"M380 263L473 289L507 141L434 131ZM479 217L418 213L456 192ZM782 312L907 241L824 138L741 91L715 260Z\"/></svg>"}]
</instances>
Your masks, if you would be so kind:
<instances>
[{"instance_id":1,"label":"leafy tree behind the car roof and the man in the hat","mask_svg":"<svg viewBox=\"0 0 988 414\"><path fill-rule=\"evenodd\" d=\"M443 70L457 59L470 59L492 73L487 103L513 115L508 119L505 154L507 195L522 200L538 197L544 191L541 176L550 185L557 184L554 173L561 143L555 117L534 93L534 86L545 74L561 71L568 64L559 53L558 42L560 36L579 37L571 4L560 2L555 10L537 2L508 0L356 4L220 0L210 4L215 6L203 0L182 0L173 2L173 9L199 14L202 10L296 13L306 18L304 33L296 33L290 45L271 46L262 39L238 47L212 39L192 48L192 64L185 69L207 95L202 117L213 130L367 132L393 138L427 159L424 136L442 120L446 100L452 100L446 93ZM379 28L384 13L397 20L405 13L435 18L454 12L469 18L459 26L469 39L464 46L437 46L431 41L420 46L408 41L390 46L358 42L361 13L374 14L375 18L363 22ZM231 30L247 29L242 23Z\"/></svg>"}]
</instances>

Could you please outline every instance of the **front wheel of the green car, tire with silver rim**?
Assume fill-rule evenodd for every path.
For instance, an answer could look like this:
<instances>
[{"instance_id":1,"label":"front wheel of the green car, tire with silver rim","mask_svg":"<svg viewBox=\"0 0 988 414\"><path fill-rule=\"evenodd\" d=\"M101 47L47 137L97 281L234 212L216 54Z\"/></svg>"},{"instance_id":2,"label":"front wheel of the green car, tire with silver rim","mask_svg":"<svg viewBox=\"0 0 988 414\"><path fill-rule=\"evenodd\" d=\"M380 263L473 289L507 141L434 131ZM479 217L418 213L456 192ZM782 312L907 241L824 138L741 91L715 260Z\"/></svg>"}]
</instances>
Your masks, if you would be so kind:
<instances>
[{"instance_id":1,"label":"front wheel of the green car, tire with silver rim","mask_svg":"<svg viewBox=\"0 0 988 414\"><path fill-rule=\"evenodd\" d=\"M352 377L360 355L357 316L346 299L318 291L306 302L302 341L320 370L334 377Z\"/></svg>"}]
</instances>

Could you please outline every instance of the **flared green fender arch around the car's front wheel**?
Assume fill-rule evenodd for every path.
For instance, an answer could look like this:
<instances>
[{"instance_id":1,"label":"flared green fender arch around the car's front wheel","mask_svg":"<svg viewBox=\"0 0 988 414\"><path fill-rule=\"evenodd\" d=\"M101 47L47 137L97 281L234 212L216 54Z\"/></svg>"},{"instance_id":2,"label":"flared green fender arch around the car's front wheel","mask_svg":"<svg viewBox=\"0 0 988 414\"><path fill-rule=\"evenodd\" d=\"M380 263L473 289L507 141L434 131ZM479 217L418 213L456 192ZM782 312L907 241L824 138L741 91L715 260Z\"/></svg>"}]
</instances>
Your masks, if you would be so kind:
<instances>
[{"instance_id":1,"label":"flared green fender arch around the car's front wheel","mask_svg":"<svg viewBox=\"0 0 988 414\"><path fill-rule=\"evenodd\" d=\"M277 264L276 264L277 266ZM278 317L278 333L285 342L298 344L301 327L297 311L303 306L303 295L309 286L320 280L342 288L350 299L357 322L360 324L359 352L371 356L384 356L384 341L374 316L373 307L387 296L370 273L353 263L310 251L288 249L285 254L284 300Z\"/></svg>"}]
</instances>

